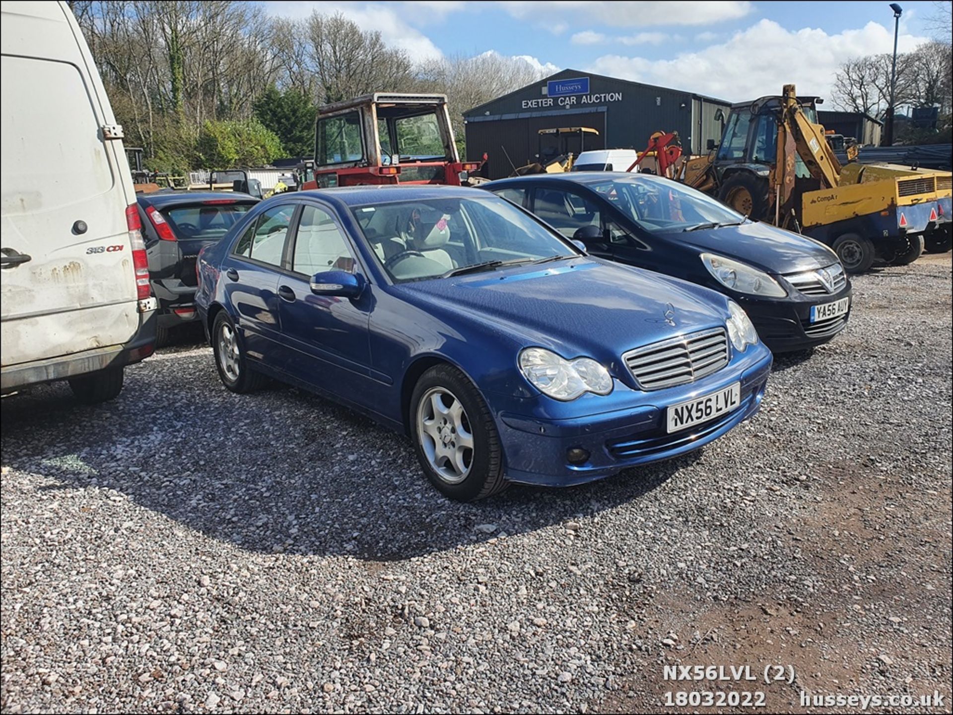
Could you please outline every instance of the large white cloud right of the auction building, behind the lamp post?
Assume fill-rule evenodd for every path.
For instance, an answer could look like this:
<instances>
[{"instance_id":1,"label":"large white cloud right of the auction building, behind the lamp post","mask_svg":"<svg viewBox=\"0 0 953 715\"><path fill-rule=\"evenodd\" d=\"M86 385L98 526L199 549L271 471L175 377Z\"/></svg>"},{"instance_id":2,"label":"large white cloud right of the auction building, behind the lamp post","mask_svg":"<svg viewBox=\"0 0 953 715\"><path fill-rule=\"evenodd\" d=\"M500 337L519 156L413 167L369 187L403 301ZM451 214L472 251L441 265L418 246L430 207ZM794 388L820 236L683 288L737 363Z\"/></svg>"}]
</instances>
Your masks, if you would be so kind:
<instances>
[{"instance_id":1,"label":"large white cloud right of the auction building, behind the lamp post","mask_svg":"<svg viewBox=\"0 0 953 715\"><path fill-rule=\"evenodd\" d=\"M899 51L913 50L927 38L900 36ZM869 22L860 30L827 34L804 28L785 30L760 20L731 39L671 60L648 60L607 54L590 71L720 97L731 102L780 94L795 83L799 94L816 94L830 101L834 76L841 63L864 54L893 51L893 28Z\"/></svg>"}]
</instances>

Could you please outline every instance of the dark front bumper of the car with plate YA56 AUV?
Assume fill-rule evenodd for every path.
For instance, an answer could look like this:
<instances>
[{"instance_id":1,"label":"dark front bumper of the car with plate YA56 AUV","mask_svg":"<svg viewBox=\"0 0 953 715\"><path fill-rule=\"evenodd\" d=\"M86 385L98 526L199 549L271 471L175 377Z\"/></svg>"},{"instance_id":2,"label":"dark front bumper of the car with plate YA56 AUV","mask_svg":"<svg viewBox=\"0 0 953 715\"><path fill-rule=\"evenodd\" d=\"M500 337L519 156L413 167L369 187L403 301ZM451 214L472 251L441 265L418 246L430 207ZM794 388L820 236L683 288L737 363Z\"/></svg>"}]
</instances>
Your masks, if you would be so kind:
<instances>
[{"instance_id":1,"label":"dark front bumper of the car with plate YA56 AUV","mask_svg":"<svg viewBox=\"0 0 953 715\"><path fill-rule=\"evenodd\" d=\"M827 321L811 323L811 307L850 298L850 310ZM736 300L758 329L758 335L772 352L806 350L826 343L847 327L854 309L853 288L848 282L838 293L830 295L798 294L796 300L750 301Z\"/></svg>"}]
</instances>

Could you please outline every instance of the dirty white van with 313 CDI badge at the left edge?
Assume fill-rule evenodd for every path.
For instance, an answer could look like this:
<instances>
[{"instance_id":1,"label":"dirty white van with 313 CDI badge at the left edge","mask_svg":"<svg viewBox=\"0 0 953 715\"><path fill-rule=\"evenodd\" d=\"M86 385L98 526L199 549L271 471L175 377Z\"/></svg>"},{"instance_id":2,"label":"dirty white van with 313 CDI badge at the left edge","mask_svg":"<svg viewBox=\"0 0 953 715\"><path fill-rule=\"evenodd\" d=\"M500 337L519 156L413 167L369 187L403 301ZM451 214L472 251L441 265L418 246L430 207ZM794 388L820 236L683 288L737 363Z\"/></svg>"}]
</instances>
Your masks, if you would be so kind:
<instances>
[{"instance_id":1,"label":"dirty white van with 313 CDI badge at the left edge","mask_svg":"<svg viewBox=\"0 0 953 715\"><path fill-rule=\"evenodd\" d=\"M155 342L122 128L65 3L0 13L0 392L66 379L110 400Z\"/></svg>"}]
</instances>

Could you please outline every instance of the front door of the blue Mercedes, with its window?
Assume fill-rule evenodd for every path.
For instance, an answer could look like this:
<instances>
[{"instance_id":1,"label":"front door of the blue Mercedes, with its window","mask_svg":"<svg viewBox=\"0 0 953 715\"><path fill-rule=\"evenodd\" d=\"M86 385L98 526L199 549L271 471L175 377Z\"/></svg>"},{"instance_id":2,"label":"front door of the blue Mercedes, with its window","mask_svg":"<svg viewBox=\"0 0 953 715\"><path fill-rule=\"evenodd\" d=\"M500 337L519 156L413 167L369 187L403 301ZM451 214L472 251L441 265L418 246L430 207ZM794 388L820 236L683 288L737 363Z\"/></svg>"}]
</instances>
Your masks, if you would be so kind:
<instances>
[{"instance_id":1,"label":"front door of the blue Mercedes, with its window","mask_svg":"<svg viewBox=\"0 0 953 715\"><path fill-rule=\"evenodd\" d=\"M326 270L366 278L332 209L302 206L291 257L291 270L281 274L277 288L286 369L345 400L374 407L368 342L371 286L358 298L311 292L312 276Z\"/></svg>"}]
</instances>

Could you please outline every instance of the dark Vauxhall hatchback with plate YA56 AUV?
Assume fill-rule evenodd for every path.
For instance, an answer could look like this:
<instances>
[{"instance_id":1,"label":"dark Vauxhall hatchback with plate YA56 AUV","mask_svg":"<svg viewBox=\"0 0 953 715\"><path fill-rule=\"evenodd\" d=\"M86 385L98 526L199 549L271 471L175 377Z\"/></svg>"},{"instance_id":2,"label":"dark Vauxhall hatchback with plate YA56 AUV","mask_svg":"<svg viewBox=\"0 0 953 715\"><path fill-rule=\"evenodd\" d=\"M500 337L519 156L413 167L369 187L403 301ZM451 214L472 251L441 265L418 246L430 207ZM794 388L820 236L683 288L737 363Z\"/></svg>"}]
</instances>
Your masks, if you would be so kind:
<instances>
[{"instance_id":1,"label":"dark Vauxhall hatchback with plate YA56 AUV","mask_svg":"<svg viewBox=\"0 0 953 715\"><path fill-rule=\"evenodd\" d=\"M851 286L833 250L664 177L574 171L480 188L533 211L592 255L724 293L775 352L814 348L847 325Z\"/></svg>"}]
</instances>

